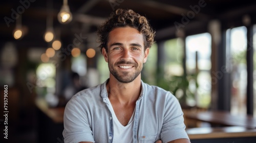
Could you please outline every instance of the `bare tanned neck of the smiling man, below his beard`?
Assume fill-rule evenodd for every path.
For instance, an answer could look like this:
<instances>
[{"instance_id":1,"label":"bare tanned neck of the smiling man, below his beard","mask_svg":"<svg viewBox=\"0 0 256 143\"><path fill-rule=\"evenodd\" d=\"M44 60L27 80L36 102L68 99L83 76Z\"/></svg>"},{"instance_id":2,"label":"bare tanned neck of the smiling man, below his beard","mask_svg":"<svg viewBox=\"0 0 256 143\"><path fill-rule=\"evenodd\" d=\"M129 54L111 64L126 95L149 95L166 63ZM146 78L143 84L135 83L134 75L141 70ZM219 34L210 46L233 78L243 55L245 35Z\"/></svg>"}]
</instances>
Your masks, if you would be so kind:
<instances>
[{"instance_id":1,"label":"bare tanned neck of the smiling man, below his beard","mask_svg":"<svg viewBox=\"0 0 256 143\"><path fill-rule=\"evenodd\" d=\"M138 76L130 83L121 83L115 78L110 77L106 88L110 101L119 102L122 105L134 104L140 95L141 79Z\"/></svg>"}]
</instances>

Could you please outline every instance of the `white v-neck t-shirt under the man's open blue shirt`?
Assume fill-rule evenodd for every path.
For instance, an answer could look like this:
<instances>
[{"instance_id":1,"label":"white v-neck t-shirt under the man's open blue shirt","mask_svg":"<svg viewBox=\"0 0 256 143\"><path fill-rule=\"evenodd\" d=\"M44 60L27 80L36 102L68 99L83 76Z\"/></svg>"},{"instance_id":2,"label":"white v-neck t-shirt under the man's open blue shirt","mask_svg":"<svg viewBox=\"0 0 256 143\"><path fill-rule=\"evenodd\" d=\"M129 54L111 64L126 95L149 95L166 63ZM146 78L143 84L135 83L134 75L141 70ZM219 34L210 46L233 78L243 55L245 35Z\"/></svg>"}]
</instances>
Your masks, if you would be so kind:
<instances>
[{"instance_id":1,"label":"white v-neck t-shirt under the man's open blue shirt","mask_svg":"<svg viewBox=\"0 0 256 143\"><path fill-rule=\"evenodd\" d=\"M108 98L108 104L110 105L110 111L113 117L113 125L114 125L114 136L113 136L113 143L130 143L133 142L133 124L134 124L134 113L130 118L129 123L126 126L123 126L117 119L115 111L112 107L112 104Z\"/></svg>"}]
</instances>

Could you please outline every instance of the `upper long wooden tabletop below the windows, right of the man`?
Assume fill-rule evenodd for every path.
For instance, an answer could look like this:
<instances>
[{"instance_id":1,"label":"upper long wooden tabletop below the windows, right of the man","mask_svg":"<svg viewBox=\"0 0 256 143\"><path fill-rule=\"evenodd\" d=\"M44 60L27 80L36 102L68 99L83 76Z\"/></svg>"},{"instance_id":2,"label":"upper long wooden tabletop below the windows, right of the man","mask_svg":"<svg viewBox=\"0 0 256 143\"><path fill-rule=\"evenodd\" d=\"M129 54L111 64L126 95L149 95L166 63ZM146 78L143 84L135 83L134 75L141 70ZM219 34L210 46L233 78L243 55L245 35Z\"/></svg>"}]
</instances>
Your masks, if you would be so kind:
<instances>
[{"instance_id":1,"label":"upper long wooden tabletop below the windows, right of the man","mask_svg":"<svg viewBox=\"0 0 256 143\"><path fill-rule=\"evenodd\" d=\"M186 112L184 117L211 124L256 129L256 118L250 115L231 115L230 112L227 111L190 111Z\"/></svg>"}]
</instances>

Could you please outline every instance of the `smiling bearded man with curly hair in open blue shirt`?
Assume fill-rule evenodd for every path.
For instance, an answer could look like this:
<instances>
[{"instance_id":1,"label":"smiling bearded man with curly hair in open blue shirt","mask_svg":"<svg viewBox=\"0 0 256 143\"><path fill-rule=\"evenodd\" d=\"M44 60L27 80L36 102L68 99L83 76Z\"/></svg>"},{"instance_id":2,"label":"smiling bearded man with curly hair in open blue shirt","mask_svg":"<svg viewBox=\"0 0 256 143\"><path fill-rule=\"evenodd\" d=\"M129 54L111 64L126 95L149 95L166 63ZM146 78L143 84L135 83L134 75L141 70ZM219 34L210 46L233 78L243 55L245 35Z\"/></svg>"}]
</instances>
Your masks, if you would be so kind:
<instances>
[{"instance_id":1,"label":"smiling bearded man with curly hair in open blue shirt","mask_svg":"<svg viewBox=\"0 0 256 143\"><path fill-rule=\"evenodd\" d=\"M118 9L98 35L110 78L68 102L65 142L190 142L177 99L141 80L155 36L147 19Z\"/></svg>"}]
</instances>

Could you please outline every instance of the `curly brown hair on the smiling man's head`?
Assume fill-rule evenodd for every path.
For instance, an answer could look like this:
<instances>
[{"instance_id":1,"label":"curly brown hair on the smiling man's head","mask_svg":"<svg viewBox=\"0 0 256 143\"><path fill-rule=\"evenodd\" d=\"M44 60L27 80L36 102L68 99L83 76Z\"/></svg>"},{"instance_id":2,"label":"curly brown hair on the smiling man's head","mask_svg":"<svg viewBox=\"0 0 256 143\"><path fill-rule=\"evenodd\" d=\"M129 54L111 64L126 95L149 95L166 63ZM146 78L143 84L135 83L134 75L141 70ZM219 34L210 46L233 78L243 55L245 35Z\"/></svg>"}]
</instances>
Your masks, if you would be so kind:
<instances>
[{"instance_id":1,"label":"curly brown hair on the smiling man's head","mask_svg":"<svg viewBox=\"0 0 256 143\"><path fill-rule=\"evenodd\" d=\"M98 41L101 43L99 45L100 51L102 52L102 48L105 48L106 52L108 52L107 43L109 33L114 28L127 26L135 28L143 34L145 47L151 47L155 42L155 31L151 28L146 17L135 13L131 9L117 9L116 12L112 12L110 17L98 28ZM144 48L144 50L145 49L146 48Z\"/></svg>"}]
</instances>

